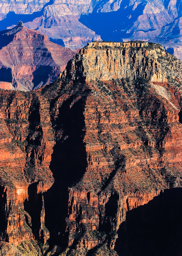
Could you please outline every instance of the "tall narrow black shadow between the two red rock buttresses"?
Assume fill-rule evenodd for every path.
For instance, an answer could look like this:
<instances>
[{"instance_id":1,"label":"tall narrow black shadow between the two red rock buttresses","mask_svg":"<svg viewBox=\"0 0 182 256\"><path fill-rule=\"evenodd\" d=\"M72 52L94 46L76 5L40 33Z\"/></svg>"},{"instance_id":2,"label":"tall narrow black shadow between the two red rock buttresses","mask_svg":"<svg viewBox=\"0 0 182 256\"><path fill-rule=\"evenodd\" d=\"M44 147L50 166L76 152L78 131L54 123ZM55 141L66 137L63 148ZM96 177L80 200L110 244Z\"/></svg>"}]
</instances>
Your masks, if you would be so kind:
<instances>
[{"instance_id":1,"label":"tall narrow black shadow between the two red rock buttresses","mask_svg":"<svg viewBox=\"0 0 182 256\"><path fill-rule=\"evenodd\" d=\"M71 102L72 97L62 104L56 119L56 129L63 131L63 139L57 140L50 164L55 182L44 195L45 225L50 231L48 243L59 244L62 247L67 246L68 243L67 233L65 233L68 187L82 178L87 167L86 150L82 141L85 125L84 100L78 100L70 108Z\"/></svg>"}]
</instances>

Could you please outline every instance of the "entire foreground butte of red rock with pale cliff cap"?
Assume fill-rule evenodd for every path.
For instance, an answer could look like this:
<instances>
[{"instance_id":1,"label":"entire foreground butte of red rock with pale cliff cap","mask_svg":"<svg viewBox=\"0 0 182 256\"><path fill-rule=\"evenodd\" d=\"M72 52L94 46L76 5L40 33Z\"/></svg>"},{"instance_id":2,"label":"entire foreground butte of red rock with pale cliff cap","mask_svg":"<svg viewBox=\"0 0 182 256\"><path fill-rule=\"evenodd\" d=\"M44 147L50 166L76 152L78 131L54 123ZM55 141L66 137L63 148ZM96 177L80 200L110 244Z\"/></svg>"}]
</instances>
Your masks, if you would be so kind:
<instances>
[{"instance_id":1,"label":"entire foreground butte of red rock with pale cliff cap","mask_svg":"<svg viewBox=\"0 0 182 256\"><path fill-rule=\"evenodd\" d=\"M53 84L1 90L3 248L120 254L127 212L182 187L181 67L158 44L96 42Z\"/></svg>"}]
</instances>

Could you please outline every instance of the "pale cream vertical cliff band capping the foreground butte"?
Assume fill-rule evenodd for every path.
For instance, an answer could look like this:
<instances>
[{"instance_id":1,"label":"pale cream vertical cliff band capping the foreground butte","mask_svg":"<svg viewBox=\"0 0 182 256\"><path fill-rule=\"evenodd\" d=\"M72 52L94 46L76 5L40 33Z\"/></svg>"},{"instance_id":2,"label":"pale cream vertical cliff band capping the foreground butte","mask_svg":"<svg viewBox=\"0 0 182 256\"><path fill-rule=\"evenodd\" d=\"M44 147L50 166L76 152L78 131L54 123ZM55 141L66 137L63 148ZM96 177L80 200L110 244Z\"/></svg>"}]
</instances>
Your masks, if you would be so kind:
<instances>
[{"instance_id":1,"label":"pale cream vertical cliff band capping the foreground butte","mask_svg":"<svg viewBox=\"0 0 182 256\"><path fill-rule=\"evenodd\" d=\"M148 43L88 43L67 65L68 77L73 80L107 81L111 79L145 77L151 82L165 83L165 71L157 61L157 52L165 55L164 49L146 51ZM138 48L139 51L132 51ZM143 65L143 63L145 63ZM66 76L66 73L64 74Z\"/></svg>"}]
</instances>

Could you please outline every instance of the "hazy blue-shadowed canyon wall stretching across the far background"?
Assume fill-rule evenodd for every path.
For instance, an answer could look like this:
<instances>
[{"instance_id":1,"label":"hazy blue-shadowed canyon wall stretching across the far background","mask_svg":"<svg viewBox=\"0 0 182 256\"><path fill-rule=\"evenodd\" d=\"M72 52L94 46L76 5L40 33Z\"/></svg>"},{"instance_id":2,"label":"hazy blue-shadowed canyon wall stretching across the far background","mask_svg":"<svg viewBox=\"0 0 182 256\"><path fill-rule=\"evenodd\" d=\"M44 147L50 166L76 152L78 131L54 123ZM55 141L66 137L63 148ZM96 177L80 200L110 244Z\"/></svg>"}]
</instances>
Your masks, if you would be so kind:
<instances>
[{"instance_id":1,"label":"hazy blue-shadowed canyon wall stretching across the far background","mask_svg":"<svg viewBox=\"0 0 182 256\"><path fill-rule=\"evenodd\" d=\"M9 12L15 12L19 19L29 14L30 19L25 18L27 28L39 30L50 40L58 40L62 46L72 49L101 39L144 40L160 43L182 59L182 4L179 0L25 0L11 3L1 0L0 26ZM36 15L31 16L33 14ZM7 17L11 19L10 15Z\"/></svg>"}]
</instances>

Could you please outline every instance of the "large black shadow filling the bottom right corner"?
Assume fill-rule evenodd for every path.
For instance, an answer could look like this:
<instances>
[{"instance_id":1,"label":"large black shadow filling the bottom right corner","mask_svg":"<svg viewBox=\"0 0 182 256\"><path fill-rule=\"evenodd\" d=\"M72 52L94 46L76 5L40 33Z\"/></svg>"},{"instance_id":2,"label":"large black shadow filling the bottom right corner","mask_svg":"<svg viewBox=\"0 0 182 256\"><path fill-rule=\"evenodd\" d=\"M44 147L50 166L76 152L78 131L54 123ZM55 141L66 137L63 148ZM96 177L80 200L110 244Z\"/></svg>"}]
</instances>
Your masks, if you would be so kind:
<instances>
[{"instance_id":1,"label":"large black shadow filling the bottom right corner","mask_svg":"<svg viewBox=\"0 0 182 256\"><path fill-rule=\"evenodd\" d=\"M119 256L181 256L182 188L166 189L148 204L127 212L118 230Z\"/></svg>"}]
</instances>

